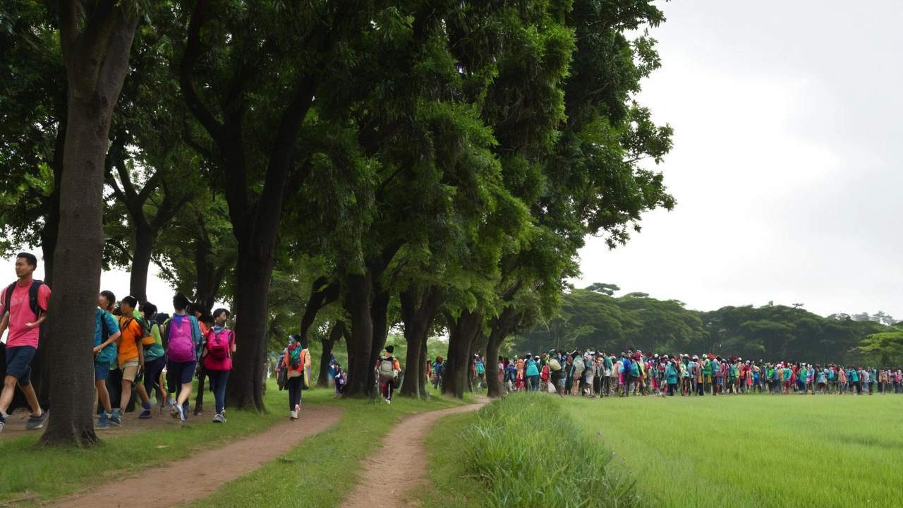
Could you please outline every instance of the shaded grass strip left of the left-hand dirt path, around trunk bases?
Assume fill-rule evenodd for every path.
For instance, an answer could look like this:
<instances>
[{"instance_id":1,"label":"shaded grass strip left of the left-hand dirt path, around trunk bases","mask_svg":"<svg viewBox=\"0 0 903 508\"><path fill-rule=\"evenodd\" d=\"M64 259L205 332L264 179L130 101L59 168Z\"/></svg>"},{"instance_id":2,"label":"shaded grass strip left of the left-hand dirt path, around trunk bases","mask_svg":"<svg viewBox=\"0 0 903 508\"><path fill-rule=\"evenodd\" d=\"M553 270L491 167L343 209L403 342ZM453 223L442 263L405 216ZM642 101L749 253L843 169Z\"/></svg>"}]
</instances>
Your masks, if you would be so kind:
<instances>
[{"instance_id":1,"label":"shaded grass strip left of the left-hand dirt path, around trunk bases","mask_svg":"<svg viewBox=\"0 0 903 508\"><path fill-rule=\"evenodd\" d=\"M212 408L212 394L207 395ZM313 403L318 400L323 403L330 401L329 395L327 390L321 390L310 399ZM266 390L265 404L270 409L282 408L286 397L272 381ZM191 456L199 450L222 447L261 432L283 418L284 411L279 410L267 414L230 410L226 425L213 425L204 416L190 417L178 427L120 436L105 436L103 431L98 431L100 444L87 449L34 447L40 437L38 433L3 439L0 440L0 503L20 498L40 501L71 494L107 483L117 475L131 475L145 467Z\"/></svg>"}]
</instances>

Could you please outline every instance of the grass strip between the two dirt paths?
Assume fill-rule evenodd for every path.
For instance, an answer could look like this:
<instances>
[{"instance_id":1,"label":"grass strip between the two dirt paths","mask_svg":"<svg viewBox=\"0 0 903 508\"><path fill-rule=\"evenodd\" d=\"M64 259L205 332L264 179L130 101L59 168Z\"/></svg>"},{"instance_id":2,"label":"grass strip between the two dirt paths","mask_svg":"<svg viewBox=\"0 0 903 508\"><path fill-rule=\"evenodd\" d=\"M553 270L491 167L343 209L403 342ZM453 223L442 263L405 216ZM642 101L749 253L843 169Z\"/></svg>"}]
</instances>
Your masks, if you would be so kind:
<instances>
[{"instance_id":1,"label":"grass strip between the two dirt paths","mask_svg":"<svg viewBox=\"0 0 903 508\"><path fill-rule=\"evenodd\" d=\"M304 397L306 404L306 392ZM338 506L354 487L365 457L382 447L382 438L400 417L461 404L443 397L430 400L396 397L391 405L378 399L332 402L346 408L337 425L305 439L291 452L229 482L217 494L197 500L191 506Z\"/></svg>"}]
</instances>

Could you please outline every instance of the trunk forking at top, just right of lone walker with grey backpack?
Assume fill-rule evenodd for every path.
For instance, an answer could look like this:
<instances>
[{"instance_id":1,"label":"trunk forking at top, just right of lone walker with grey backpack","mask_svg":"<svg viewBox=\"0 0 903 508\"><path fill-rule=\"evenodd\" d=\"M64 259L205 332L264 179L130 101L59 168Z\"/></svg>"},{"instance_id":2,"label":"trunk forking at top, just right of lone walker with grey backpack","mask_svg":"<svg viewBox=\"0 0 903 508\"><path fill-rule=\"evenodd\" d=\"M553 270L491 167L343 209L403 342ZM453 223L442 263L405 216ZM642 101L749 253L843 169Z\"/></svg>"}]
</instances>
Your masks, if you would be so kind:
<instances>
[{"instance_id":1,"label":"trunk forking at top, just right of lone walker with grey backpack","mask_svg":"<svg viewBox=\"0 0 903 508\"><path fill-rule=\"evenodd\" d=\"M414 285L398 295L407 342L405 380L409 381L402 385L401 395L420 397L426 394L426 340L444 299L442 292L435 287L418 291Z\"/></svg>"}]
</instances>

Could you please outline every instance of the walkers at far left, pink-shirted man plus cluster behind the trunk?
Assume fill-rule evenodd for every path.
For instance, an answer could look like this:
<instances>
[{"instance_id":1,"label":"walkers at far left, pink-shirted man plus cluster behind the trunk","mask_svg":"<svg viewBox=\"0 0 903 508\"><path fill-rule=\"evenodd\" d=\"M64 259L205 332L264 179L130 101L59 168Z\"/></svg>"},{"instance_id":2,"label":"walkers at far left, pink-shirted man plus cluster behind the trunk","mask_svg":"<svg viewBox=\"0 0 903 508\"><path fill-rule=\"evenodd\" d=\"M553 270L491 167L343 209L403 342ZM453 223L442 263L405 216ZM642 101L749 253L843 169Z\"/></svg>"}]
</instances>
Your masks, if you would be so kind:
<instances>
[{"instance_id":1,"label":"walkers at far left, pink-shirted man plus cluster behind the trunk","mask_svg":"<svg viewBox=\"0 0 903 508\"><path fill-rule=\"evenodd\" d=\"M0 431L16 387L22 390L32 409L25 428L42 428L47 419L31 376L51 290L33 279L36 268L33 254L19 253L15 259L17 280L0 292L0 335L9 331L4 388L0 394ZM158 314L154 304L139 303L133 296L122 298L116 305L112 292L101 291L98 295L93 346L98 428L122 425L133 387L142 408L139 419L152 417L149 394L155 392L161 412L163 407L172 407L172 417L186 421L196 372L199 393L194 414L200 415L203 410L206 378L216 400L213 421L226 422L226 383L236 351L235 334L226 327L229 311L220 308L206 315L197 306L191 306L182 293L172 298L172 306L174 312L169 316ZM110 390L117 395L116 400L111 400Z\"/></svg>"}]
</instances>

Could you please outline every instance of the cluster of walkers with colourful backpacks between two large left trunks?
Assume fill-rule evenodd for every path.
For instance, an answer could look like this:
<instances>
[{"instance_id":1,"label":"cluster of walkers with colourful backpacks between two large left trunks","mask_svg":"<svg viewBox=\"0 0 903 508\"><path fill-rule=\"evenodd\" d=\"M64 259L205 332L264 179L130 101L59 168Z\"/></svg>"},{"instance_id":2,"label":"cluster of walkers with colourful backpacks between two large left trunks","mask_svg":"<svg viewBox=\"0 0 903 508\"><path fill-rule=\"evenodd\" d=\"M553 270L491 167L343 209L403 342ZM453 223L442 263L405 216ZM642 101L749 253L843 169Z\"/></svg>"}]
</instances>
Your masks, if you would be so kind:
<instances>
[{"instance_id":1,"label":"cluster of walkers with colourful backpacks between two large left trunks","mask_svg":"<svg viewBox=\"0 0 903 508\"><path fill-rule=\"evenodd\" d=\"M161 412L172 408L172 418L187 421L195 376L194 415L203 412L206 379L215 400L213 422L226 423L226 383L236 352L235 333L226 327L230 313L219 308L206 314L182 293L172 297L172 307L172 316L158 314L154 304L139 304L134 296L116 306L112 292L100 292L94 334L94 380L102 408L98 428L122 425L133 386L142 407L139 419L151 418L150 394L155 393ZM110 400L109 388L119 400Z\"/></svg>"}]
</instances>

